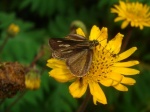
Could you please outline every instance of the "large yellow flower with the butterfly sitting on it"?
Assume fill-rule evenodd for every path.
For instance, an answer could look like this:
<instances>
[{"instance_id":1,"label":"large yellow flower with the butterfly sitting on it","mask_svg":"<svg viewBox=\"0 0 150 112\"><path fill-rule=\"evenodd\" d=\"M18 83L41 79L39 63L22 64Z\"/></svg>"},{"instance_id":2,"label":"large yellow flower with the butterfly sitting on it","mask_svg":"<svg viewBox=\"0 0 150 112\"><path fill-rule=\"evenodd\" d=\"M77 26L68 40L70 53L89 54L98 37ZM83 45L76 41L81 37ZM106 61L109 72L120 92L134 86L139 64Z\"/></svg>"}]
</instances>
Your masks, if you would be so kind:
<instances>
[{"instance_id":1,"label":"large yellow flower with the butterfly sitting on it","mask_svg":"<svg viewBox=\"0 0 150 112\"><path fill-rule=\"evenodd\" d=\"M84 32L79 28L77 34L85 36ZM136 47L118 54L120 51L123 35L118 33L112 40L107 43L107 28L101 30L97 26L93 26L89 36L89 40L98 40L100 44L93 49L93 59L89 72L83 76L75 77L67 68L65 61L51 58L48 60L47 66L52 68L49 72L50 76L59 82L74 81L69 90L74 98L80 98L89 86L93 95L94 104L100 102L107 104L107 100L103 90L99 84L104 86L113 86L119 91L128 91L125 85L133 85L135 80L128 75L139 74L136 69L129 68L138 64L136 60L121 62L135 52Z\"/></svg>"}]
</instances>

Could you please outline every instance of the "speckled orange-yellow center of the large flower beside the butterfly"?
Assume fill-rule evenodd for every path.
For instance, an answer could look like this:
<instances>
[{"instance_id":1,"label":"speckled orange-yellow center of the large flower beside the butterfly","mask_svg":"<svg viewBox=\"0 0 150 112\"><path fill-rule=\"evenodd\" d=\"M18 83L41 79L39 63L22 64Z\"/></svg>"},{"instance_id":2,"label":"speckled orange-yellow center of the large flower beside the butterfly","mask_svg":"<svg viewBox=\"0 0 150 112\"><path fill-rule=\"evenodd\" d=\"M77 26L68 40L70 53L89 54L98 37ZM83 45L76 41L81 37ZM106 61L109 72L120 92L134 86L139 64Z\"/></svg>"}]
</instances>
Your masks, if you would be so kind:
<instances>
[{"instance_id":1,"label":"speckled orange-yellow center of the large flower beside the butterfly","mask_svg":"<svg viewBox=\"0 0 150 112\"><path fill-rule=\"evenodd\" d=\"M99 82L107 78L107 75L111 72L110 67L116 61L116 56L102 46L97 46L93 51L92 65L85 78L87 78L87 81Z\"/></svg>"}]
</instances>

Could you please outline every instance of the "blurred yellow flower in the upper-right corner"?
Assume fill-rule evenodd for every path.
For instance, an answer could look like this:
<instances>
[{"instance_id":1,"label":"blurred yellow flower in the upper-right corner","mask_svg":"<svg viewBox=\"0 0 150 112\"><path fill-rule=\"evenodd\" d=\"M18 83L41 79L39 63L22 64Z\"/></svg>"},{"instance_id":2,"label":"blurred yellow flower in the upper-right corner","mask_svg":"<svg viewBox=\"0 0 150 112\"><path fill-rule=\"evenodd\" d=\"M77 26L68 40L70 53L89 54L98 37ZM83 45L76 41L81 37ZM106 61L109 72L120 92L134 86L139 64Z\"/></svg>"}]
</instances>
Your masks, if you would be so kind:
<instances>
[{"instance_id":1,"label":"blurred yellow flower in the upper-right corner","mask_svg":"<svg viewBox=\"0 0 150 112\"><path fill-rule=\"evenodd\" d=\"M124 29L130 23L131 27L140 27L142 30L144 26L150 27L150 8L139 2L123 2L119 5L114 5L111 8L112 13L117 13L118 17L115 22L123 20L121 28Z\"/></svg>"}]
</instances>

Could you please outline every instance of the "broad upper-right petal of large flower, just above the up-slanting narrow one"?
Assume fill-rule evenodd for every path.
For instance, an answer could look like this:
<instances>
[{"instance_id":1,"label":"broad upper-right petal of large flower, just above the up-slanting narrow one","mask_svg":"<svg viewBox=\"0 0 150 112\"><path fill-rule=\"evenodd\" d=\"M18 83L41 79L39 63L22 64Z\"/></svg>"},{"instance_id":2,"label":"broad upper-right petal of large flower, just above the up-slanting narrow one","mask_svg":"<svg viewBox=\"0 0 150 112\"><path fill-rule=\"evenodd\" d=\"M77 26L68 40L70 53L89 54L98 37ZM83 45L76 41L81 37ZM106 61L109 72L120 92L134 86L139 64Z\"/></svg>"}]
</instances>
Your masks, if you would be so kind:
<instances>
[{"instance_id":1,"label":"broad upper-right petal of large flower, just above the up-slanting narrow one","mask_svg":"<svg viewBox=\"0 0 150 112\"><path fill-rule=\"evenodd\" d=\"M113 54L118 54L120 51L121 43L122 43L123 35L118 33L112 40L110 40L107 44L106 49Z\"/></svg>"}]
</instances>

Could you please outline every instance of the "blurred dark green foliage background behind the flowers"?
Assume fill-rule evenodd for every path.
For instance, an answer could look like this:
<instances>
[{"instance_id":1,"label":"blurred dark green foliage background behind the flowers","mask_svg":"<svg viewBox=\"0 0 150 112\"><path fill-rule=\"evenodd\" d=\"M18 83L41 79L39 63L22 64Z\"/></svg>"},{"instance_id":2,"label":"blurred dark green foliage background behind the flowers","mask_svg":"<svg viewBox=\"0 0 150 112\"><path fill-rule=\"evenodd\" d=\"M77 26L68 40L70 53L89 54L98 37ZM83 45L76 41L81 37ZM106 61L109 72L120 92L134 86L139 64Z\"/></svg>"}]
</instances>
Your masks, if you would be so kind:
<instances>
[{"instance_id":1,"label":"blurred dark green foliage background behind the flowers","mask_svg":"<svg viewBox=\"0 0 150 112\"><path fill-rule=\"evenodd\" d=\"M135 0L136 1L136 0ZM139 0L150 6L149 0ZM88 31L95 24L108 28L109 38L118 32L126 35L128 30L120 29L121 23L114 23L115 14L110 13L118 0L1 0L0 1L0 45L11 23L19 25L20 32L9 39L0 54L1 62L19 62L30 65L43 45L48 46L50 37L64 37L70 32L75 20L82 21ZM124 38L125 38L124 37ZM138 51L131 57L140 61L137 69L140 75L133 76L136 84L128 92L119 92L114 88L103 87L108 104L97 106L90 100L86 112L149 112L150 111L150 28L133 28L126 49L137 46ZM75 112L83 98L74 99L68 91L70 83L58 83L48 75L46 67L50 50L37 61L41 72L41 87L28 90L10 112ZM5 112L19 96L5 99L0 112Z\"/></svg>"}]
</instances>

